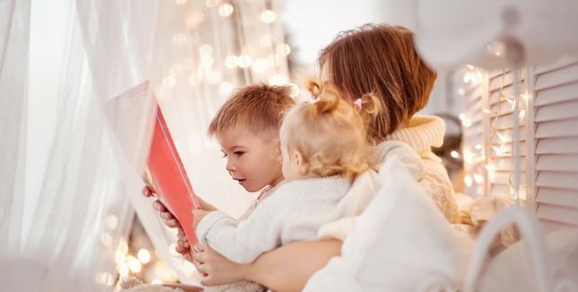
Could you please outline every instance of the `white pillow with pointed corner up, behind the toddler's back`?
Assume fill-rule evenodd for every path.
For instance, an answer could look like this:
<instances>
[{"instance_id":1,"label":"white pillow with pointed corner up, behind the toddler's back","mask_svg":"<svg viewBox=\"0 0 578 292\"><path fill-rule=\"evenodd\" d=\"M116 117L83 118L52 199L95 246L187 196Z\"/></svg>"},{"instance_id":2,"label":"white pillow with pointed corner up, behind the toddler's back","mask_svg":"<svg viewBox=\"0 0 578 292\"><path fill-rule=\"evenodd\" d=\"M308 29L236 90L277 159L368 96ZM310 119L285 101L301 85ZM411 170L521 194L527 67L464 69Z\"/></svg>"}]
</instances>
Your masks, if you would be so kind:
<instances>
[{"instance_id":1,"label":"white pillow with pointed corner up, behind the toddler's back","mask_svg":"<svg viewBox=\"0 0 578 292\"><path fill-rule=\"evenodd\" d=\"M334 257L304 291L427 291L458 288L471 239L455 232L396 157L382 188Z\"/></svg>"}]
</instances>

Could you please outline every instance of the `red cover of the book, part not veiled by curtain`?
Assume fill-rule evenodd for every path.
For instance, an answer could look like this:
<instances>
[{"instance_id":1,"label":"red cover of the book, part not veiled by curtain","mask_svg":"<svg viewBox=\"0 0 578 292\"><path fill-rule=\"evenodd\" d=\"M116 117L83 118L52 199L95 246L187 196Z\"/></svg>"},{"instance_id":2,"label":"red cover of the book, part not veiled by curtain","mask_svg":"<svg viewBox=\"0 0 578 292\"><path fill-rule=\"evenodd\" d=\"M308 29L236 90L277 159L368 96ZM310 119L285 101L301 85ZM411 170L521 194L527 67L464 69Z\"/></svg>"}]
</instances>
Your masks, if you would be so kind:
<instances>
[{"instance_id":1,"label":"red cover of the book, part not veiled by curtain","mask_svg":"<svg viewBox=\"0 0 578 292\"><path fill-rule=\"evenodd\" d=\"M156 190L158 199L181 223L189 243L197 243L192 225L192 209L200 208L199 200L192 190L160 107L156 111L146 176L148 183Z\"/></svg>"}]
</instances>

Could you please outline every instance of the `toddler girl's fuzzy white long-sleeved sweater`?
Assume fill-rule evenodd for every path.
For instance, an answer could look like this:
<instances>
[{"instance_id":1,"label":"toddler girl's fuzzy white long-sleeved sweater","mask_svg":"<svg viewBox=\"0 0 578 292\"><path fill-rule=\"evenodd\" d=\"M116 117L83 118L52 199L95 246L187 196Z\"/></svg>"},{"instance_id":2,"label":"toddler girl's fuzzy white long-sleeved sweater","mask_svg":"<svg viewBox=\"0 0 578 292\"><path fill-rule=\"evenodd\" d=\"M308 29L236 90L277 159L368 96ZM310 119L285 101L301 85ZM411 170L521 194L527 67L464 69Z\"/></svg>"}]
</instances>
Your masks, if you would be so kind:
<instances>
[{"instance_id":1,"label":"toddler girl's fuzzy white long-sleeved sweater","mask_svg":"<svg viewBox=\"0 0 578 292\"><path fill-rule=\"evenodd\" d=\"M280 185L243 221L215 211L196 227L208 243L231 261L253 262L263 252L296 241L316 240L320 226L359 215L378 191L374 171L351 184L340 177L289 181Z\"/></svg>"}]
</instances>

